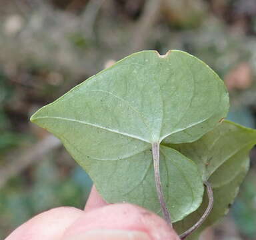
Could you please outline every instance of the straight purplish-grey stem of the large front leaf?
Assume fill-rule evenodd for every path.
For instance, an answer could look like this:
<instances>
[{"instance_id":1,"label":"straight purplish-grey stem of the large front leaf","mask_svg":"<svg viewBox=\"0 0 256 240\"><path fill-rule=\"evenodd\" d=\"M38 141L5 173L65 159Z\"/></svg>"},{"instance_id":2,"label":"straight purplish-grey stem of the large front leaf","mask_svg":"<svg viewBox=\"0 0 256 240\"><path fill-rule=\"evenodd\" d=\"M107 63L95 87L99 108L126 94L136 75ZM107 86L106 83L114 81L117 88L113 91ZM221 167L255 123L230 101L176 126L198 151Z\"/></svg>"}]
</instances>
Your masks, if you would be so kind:
<instances>
[{"instance_id":1,"label":"straight purplish-grey stem of the large front leaf","mask_svg":"<svg viewBox=\"0 0 256 240\"><path fill-rule=\"evenodd\" d=\"M166 207L165 198L163 197L163 189L161 185L160 170L159 170L159 162L160 162L159 143L152 143L152 155L153 155L154 172L155 172L155 185L157 187L157 196L159 198L159 202L161 205L163 217L165 218L165 221L167 221L167 223L171 225L171 227L173 227L171 223L171 216Z\"/></svg>"}]
</instances>

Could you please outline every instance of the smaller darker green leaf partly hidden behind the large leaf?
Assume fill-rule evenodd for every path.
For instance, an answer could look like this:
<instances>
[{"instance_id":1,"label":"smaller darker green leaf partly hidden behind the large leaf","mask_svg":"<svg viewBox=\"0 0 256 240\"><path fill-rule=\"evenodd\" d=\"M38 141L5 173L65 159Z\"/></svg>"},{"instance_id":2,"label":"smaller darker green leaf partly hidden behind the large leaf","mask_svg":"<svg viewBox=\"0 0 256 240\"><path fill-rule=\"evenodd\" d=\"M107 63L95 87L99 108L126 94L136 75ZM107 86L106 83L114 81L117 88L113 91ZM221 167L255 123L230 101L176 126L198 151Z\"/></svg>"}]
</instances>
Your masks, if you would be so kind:
<instances>
[{"instance_id":1,"label":"smaller darker green leaf partly hidden behind the large leaf","mask_svg":"<svg viewBox=\"0 0 256 240\"><path fill-rule=\"evenodd\" d=\"M197 164L203 179L208 180L213 187L213 210L203 225L188 239L198 239L205 227L227 214L249 168L249 151L255 143L255 130L223 121L213 131L193 143L172 145ZM203 215L207 204L205 195L201 207L176 223L175 229L179 233L189 229Z\"/></svg>"}]
</instances>

